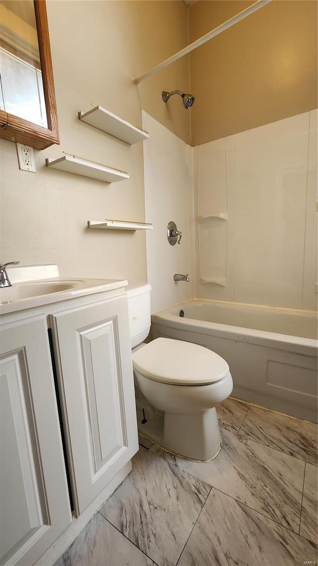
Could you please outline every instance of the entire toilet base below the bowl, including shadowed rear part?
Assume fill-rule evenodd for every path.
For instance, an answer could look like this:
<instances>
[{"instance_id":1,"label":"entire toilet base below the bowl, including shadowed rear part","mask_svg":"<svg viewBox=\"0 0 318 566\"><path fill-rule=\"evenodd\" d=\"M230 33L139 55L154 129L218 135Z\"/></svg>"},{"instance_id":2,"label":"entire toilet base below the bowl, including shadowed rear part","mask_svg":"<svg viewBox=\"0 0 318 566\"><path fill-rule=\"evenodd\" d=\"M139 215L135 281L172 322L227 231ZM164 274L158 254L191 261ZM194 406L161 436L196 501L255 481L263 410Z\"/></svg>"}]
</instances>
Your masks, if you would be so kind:
<instances>
[{"instance_id":1,"label":"entire toilet base below the bowl, including shadowed rear part","mask_svg":"<svg viewBox=\"0 0 318 566\"><path fill-rule=\"evenodd\" d=\"M202 413L165 413L148 418L145 424L138 418L138 432L167 452L199 462L213 460L222 444L214 408Z\"/></svg>"}]
</instances>

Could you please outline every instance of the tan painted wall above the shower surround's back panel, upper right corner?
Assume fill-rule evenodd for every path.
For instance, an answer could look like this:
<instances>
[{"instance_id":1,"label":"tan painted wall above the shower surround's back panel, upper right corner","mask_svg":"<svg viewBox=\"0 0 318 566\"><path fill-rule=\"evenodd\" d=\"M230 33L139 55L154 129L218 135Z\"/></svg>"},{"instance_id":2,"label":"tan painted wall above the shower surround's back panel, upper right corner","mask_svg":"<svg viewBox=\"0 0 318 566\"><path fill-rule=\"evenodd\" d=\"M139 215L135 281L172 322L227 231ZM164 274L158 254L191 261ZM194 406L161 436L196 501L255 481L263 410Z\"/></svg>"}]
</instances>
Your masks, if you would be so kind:
<instances>
[{"instance_id":1,"label":"tan painted wall above the shower surround's back panel, upper right corner","mask_svg":"<svg viewBox=\"0 0 318 566\"><path fill-rule=\"evenodd\" d=\"M190 9L190 42L253 2ZM272 0L190 54L192 145L317 108L317 2Z\"/></svg>"}]
</instances>

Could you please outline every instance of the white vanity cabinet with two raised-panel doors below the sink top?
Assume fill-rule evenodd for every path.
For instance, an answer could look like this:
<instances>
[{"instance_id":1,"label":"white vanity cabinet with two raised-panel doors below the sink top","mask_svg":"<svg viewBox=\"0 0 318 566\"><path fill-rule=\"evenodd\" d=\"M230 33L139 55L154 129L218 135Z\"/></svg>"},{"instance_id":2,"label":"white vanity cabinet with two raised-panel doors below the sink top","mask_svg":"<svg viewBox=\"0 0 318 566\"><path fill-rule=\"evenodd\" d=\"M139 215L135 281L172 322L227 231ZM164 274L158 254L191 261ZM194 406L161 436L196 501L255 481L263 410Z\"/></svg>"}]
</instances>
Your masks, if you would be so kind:
<instances>
[{"instance_id":1,"label":"white vanity cabinet with two raised-panel doors below the sink top","mask_svg":"<svg viewBox=\"0 0 318 566\"><path fill-rule=\"evenodd\" d=\"M0 564L32 566L85 526L138 450L127 295L3 314L0 348Z\"/></svg>"}]
</instances>

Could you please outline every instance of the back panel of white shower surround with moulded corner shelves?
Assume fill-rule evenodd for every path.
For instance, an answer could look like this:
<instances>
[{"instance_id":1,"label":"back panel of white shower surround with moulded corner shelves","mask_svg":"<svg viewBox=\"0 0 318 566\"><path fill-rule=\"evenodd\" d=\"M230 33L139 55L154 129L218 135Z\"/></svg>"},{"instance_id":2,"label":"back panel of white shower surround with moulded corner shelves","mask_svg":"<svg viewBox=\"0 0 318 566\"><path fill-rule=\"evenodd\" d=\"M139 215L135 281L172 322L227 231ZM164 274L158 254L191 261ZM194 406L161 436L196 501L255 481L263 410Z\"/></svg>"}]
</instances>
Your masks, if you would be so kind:
<instances>
[{"instance_id":1,"label":"back panel of white shower surround with moulded corner shelves","mask_svg":"<svg viewBox=\"0 0 318 566\"><path fill-rule=\"evenodd\" d=\"M197 297L317 308L316 132L313 110L194 148L196 216L228 213L196 221Z\"/></svg>"}]
</instances>

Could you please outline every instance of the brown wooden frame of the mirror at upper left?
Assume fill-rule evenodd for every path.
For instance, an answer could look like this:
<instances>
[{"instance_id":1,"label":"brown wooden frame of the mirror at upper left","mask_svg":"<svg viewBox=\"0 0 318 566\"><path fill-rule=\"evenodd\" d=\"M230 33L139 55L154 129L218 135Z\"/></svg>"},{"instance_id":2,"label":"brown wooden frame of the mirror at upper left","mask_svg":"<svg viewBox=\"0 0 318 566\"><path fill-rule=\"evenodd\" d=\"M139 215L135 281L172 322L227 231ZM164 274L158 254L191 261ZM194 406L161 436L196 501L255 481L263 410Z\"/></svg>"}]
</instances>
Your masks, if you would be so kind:
<instances>
[{"instance_id":1,"label":"brown wooden frame of the mirror at upper left","mask_svg":"<svg viewBox=\"0 0 318 566\"><path fill-rule=\"evenodd\" d=\"M34 0L34 5L48 128L0 110L0 138L45 149L59 144L59 130L45 0Z\"/></svg>"}]
</instances>

